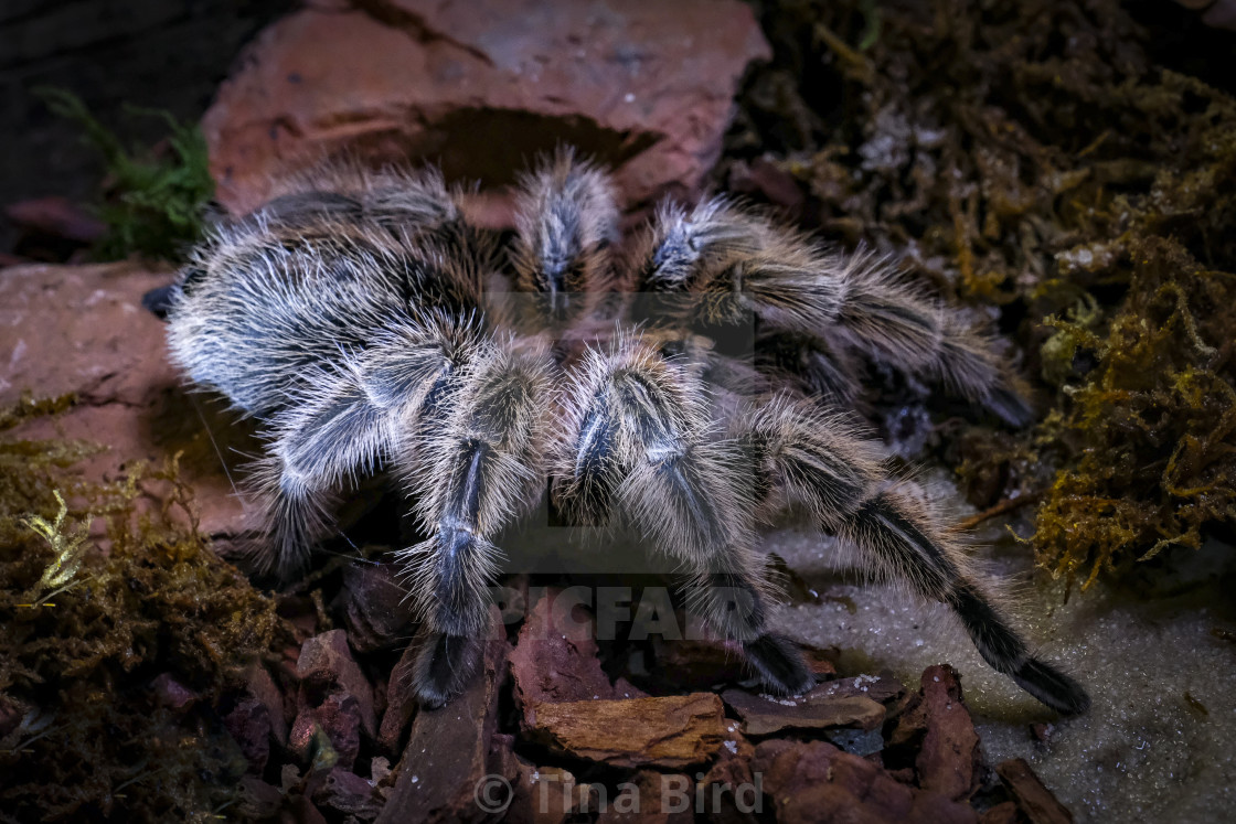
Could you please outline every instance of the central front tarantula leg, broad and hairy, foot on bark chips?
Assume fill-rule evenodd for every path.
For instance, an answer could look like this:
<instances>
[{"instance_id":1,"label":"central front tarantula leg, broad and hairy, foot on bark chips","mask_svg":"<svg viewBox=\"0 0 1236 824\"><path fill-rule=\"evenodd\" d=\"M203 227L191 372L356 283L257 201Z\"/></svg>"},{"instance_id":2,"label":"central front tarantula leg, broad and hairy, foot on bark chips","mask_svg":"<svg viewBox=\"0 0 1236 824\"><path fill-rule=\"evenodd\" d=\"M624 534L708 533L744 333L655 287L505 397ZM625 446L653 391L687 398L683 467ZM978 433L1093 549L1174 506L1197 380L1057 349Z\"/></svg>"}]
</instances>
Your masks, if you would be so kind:
<instances>
[{"instance_id":1,"label":"central front tarantula leg, broad and hairy, foot on bark chips","mask_svg":"<svg viewBox=\"0 0 1236 824\"><path fill-rule=\"evenodd\" d=\"M739 456L705 440L709 419L687 374L650 346L619 341L590 350L569 408L555 492L564 509L603 523L628 518L690 570L690 599L772 689L810 689L815 678L794 646L766 629L768 583L751 552L749 498Z\"/></svg>"}]
</instances>

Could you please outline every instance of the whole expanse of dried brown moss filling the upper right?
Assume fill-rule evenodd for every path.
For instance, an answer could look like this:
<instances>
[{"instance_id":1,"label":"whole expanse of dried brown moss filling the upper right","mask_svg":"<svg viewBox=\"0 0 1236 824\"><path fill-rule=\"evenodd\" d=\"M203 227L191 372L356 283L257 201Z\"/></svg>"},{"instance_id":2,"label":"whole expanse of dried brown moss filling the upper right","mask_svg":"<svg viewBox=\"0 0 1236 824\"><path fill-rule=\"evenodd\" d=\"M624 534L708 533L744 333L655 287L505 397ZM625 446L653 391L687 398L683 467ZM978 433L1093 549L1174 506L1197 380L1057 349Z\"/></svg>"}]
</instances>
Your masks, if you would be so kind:
<instances>
[{"instance_id":1,"label":"whole expanse of dried brown moss filling the upper right","mask_svg":"<svg viewBox=\"0 0 1236 824\"><path fill-rule=\"evenodd\" d=\"M876 36L863 0L761 14L730 153L985 306L1043 378L1036 430L942 448L975 503L1038 500L1038 560L1083 586L1236 524L1232 99L1154 65L1115 0L880 4Z\"/></svg>"}]
</instances>

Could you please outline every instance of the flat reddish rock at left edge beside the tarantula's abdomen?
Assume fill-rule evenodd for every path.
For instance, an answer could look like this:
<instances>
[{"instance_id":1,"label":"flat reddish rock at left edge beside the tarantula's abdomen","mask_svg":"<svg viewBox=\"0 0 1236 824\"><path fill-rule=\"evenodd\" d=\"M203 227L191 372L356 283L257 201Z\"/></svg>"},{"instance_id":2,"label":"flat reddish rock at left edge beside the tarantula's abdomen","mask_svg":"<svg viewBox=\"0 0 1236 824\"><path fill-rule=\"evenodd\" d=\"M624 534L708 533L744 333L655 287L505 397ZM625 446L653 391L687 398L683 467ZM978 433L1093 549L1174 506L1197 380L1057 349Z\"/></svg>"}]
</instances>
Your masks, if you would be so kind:
<instances>
[{"instance_id":1,"label":"flat reddish rock at left edge beside the tarantula's abdomen","mask_svg":"<svg viewBox=\"0 0 1236 824\"><path fill-rule=\"evenodd\" d=\"M258 447L219 403L188 395L169 364L163 324L141 299L171 278L131 263L0 271L0 408L23 393L75 393L78 403L67 411L28 420L10 435L105 445L78 466L89 482L121 478L136 461L162 466L180 452L180 478L194 489L199 529L230 535L242 528L245 509L227 472L235 474L242 462L237 453ZM158 498L171 490L152 484L147 492Z\"/></svg>"}]
</instances>

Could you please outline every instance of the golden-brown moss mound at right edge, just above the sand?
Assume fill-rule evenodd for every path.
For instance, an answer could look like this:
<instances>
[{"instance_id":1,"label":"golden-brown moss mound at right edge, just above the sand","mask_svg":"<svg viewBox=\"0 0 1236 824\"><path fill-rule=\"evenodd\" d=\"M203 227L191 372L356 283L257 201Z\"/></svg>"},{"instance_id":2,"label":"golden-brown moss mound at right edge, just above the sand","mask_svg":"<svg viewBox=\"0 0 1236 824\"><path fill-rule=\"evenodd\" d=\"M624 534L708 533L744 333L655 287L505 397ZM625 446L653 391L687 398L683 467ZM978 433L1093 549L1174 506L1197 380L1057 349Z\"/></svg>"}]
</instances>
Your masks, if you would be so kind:
<instances>
[{"instance_id":1,"label":"golden-brown moss mound at right edge, just above the sand","mask_svg":"<svg viewBox=\"0 0 1236 824\"><path fill-rule=\"evenodd\" d=\"M1128 251L1128 295L1105 331L1057 321L1044 345L1057 366L1094 362L1064 382L1068 400L1043 425L1072 460L1032 537L1047 563L1084 574L1083 588L1105 568L1196 549L1208 525L1236 523L1236 278L1163 238Z\"/></svg>"}]
</instances>

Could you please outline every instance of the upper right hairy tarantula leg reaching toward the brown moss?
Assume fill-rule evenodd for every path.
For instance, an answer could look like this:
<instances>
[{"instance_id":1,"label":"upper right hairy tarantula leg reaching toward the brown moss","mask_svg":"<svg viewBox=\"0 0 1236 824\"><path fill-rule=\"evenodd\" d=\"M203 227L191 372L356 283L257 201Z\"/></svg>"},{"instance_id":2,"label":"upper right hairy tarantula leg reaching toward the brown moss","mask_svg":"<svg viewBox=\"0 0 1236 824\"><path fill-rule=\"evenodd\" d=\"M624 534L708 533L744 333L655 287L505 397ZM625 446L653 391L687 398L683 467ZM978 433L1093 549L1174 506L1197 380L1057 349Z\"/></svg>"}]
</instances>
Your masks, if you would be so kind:
<instances>
[{"instance_id":1,"label":"upper right hairy tarantula leg reaching toward the brown moss","mask_svg":"<svg viewBox=\"0 0 1236 824\"><path fill-rule=\"evenodd\" d=\"M641 288L679 292L693 319L832 340L941 378L1011 425L1033 416L990 341L870 253L826 252L765 217L713 199L662 208L638 256Z\"/></svg>"}]
</instances>

